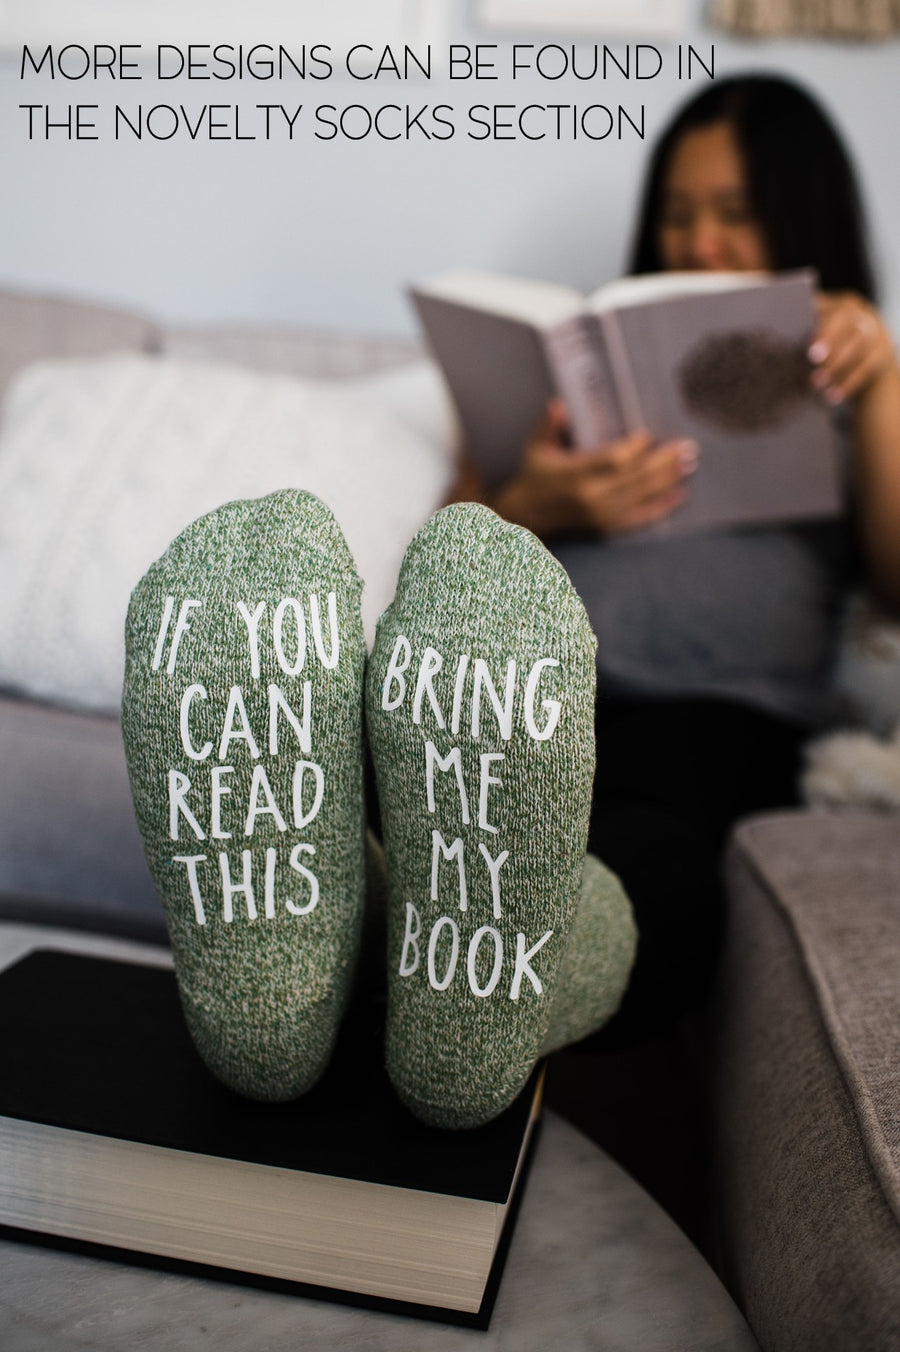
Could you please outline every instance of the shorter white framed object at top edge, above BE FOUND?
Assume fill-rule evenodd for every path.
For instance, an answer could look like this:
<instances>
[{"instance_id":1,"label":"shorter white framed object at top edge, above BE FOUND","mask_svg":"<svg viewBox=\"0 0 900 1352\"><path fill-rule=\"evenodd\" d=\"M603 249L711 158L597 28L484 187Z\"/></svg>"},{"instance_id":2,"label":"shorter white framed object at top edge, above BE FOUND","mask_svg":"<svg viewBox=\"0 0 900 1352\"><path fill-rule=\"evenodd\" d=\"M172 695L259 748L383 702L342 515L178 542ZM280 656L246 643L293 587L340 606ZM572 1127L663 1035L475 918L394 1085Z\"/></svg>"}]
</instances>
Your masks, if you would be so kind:
<instances>
[{"instance_id":1,"label":"shorter white framed object at top edge, above BE FOUND","mask_svg":"<svg viewBox=\"0 0 900 1352\"><path fill-rule=\"evenodd\" d=\"M488 28L655 38L684 32L686 11L686 0L476 0L476 18Z\"/></svg>"}]
</instances>

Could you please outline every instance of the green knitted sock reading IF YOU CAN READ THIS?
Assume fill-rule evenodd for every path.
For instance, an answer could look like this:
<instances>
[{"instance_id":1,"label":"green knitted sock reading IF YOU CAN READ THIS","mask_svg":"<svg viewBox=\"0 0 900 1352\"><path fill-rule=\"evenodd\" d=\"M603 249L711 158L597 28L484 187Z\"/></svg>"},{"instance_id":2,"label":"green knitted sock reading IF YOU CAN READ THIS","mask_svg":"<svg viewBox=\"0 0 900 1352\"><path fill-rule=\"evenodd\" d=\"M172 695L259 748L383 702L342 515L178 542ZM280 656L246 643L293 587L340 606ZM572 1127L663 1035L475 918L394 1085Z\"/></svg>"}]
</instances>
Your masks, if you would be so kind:
<instances>
[{"instance_id":1,"label":"green knitted sock reading IF YOU CAN READ THIS","mask_svg":"<svg viewBox=\"0 0 900 1352\"><path fill-rule=\"evenodd\" d=\"M131 596L122 727L191 1036L280 1102L324 1069L364 890L361 583L282 491L203 516Z\"/></svg>"}]
</instances>

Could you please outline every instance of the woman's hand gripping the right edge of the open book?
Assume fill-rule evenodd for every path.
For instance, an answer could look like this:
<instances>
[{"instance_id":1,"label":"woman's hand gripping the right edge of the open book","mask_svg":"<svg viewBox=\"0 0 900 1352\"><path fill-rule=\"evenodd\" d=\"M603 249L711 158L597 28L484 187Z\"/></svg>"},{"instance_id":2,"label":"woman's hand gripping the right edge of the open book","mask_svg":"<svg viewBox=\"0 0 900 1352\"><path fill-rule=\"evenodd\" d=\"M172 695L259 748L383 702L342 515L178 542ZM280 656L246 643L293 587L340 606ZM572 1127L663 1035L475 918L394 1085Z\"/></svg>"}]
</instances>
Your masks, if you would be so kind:
<instances>
[{"instance_id":1,"label":"woman's hand gripping the right edge of the open book","mask_svg":"<svg viewBox=\"0 0 900 1352\"><path fill-rule=\"evenodd\" d=\"M812 384L828 403L855 402L895 369L891 334L874 306L851 291L816 296L816 312Z\"/></svg>"}]
</instances>

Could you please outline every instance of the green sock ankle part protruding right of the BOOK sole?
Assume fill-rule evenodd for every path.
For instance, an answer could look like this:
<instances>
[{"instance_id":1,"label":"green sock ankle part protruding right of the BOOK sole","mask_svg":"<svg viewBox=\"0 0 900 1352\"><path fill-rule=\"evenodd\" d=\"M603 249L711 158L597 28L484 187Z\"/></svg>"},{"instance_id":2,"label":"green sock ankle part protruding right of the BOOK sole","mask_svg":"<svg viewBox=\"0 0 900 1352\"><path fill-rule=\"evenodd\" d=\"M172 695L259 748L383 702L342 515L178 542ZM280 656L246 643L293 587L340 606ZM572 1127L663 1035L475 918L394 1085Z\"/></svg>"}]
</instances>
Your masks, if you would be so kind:
<instances>
[{"instance_id":1,"label":"green sock ankle part protruding right of the BOOK sole","mask_svg":"<svg viewBox=\"0 0 900 1352\"><path fill-rule=\"evenodd\" d=\"M599 859L585 854L543 1056L608 1023L622 1003L636 948L638 927L622 883Z\"/></svg>"}]
</instances>

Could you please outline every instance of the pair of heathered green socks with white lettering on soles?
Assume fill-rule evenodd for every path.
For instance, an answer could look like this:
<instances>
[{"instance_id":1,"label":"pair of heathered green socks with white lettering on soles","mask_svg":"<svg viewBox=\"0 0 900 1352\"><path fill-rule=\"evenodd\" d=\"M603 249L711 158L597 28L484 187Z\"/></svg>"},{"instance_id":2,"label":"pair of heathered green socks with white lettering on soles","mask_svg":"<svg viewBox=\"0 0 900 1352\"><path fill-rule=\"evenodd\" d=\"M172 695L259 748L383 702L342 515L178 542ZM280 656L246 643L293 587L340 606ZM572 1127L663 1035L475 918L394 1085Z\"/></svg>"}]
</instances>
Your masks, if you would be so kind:
<instances>
[{"instance_id":1,"label":"pair of heathered green socks with white lettering on soles","mask_svg":"<svg viewBox=\"0 0 900 1352\"><path fill-rule=\"evenodd\" d=\"M123 734L181 1002L254 1099L328 1063L365 904L364 702L388 877L391 1079L427 1122L503 1111L601 1026L634 959L585 859L593 635L528 531L462 503L412 541L366 661L328 508L282 491L189 526L135 588Z\"/></svg>"}]
</instances>

